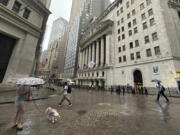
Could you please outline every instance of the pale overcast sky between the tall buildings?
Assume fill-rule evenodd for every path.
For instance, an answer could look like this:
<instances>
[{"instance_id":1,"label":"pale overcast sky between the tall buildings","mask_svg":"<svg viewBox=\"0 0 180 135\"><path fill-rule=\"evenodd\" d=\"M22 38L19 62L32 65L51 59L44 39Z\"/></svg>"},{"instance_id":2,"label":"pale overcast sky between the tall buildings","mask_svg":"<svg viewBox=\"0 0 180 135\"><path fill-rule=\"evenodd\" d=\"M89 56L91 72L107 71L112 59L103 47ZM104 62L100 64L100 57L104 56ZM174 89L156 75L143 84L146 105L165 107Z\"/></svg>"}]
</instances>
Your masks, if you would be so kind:
<instances>
[{"instance_id":1,"label":"pale overcast sky between the tall buildings","mask_svg":"<svg viewBox=\"0 0 180 135\"><path fill-rule=\"evenodd\" d=\"M114 0L110 0L110 1L112 2ZM46 33L43 41L43 50L47 49L48 47L53 21L59 17L63 17L64 19L69 21L71 5L72 5L72 0L52 0L50 6L51 15L49 16L47 22Z\"/></svg>"}]
</instances>

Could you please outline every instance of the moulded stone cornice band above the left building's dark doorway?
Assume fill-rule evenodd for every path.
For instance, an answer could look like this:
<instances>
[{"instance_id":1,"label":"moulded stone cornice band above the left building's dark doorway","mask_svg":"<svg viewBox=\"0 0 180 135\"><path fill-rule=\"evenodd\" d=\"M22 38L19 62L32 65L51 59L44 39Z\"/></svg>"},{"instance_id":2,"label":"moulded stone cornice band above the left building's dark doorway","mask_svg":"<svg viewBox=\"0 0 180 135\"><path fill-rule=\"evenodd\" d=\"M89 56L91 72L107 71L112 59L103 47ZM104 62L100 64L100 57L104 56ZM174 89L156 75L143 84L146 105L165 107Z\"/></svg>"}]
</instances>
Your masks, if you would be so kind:
<instances>
[{"instance_id":1,"label":"moulded stone cornice band above the left building's dark doorway","mask_svg":"<svg viewBox=\"0 0 180 135\"><path fill-rule=\"evenodd\" d=\"M16 27L40 37L42 30L0 4L0 18Z\"/></svg>"}]
</instances>

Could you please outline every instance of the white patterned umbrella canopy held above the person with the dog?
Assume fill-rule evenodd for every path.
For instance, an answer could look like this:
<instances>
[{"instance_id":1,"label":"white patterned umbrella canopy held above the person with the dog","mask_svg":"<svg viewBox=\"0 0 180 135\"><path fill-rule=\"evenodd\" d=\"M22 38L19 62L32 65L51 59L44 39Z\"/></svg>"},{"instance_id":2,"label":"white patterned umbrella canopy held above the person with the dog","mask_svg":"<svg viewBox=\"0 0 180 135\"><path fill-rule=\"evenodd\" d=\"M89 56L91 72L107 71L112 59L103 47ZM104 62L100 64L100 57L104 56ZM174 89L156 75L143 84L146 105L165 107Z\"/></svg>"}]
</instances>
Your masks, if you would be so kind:
<instances>
[{"instance_id":1,"label":"white patterned umbrella canopy held above the person with the dog","mask_svg":"<svg viewBox=\"0 0 180 135\"><path fill-rule=\"evenodd\" d=\"M16 81L16 84L18 85L41 85L44 83L45 81L43 79L35 77L20 78Z\"/></svg>"}]
</instances>

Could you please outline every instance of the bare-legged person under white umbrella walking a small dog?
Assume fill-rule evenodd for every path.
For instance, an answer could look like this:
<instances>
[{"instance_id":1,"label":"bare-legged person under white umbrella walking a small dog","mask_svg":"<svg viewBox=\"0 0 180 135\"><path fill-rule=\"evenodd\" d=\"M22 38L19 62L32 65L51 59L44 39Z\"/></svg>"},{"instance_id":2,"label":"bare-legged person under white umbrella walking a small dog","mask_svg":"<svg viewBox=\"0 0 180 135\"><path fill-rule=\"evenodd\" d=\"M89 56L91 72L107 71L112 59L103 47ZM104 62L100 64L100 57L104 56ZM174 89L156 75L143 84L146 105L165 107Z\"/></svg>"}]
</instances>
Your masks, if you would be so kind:
<instances>
[{"instance_id":1,"label":"bare-legged person under white umbrella walking a small dog","mask_svg":"<svg viewBox=\"0 0 180 135\"><path fill-rule=\"evenodd\" d=\"M25 100L27 100L27 94L29 93L29 91L30 91L30 86L27 85L20 85L16 91L15 104L17 107L17 113L15 116L15 124L13 128L16 128L17 130L23 130L22 120L25 111L24 103Z\"/></svg>"}]
</instances>

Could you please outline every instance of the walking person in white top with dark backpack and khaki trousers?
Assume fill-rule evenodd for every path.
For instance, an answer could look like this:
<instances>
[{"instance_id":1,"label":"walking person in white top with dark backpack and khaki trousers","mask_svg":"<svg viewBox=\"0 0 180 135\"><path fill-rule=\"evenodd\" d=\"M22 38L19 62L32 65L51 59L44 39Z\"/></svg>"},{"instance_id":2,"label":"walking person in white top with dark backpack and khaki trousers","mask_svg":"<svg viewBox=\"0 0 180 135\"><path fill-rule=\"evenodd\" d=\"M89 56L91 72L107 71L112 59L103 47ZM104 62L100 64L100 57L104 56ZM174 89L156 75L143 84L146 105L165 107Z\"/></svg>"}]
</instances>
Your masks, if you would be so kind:
<instances>
[{"instance_id":1,"label":"walking person in white top with dark backpack and khaki trousers","mask_svg":"<svg viewBox=\"0 0 180 135\"><path fill-rule=\"evenodd\" d=\"M69 99L69 95L71 94L71 87L68 86L67 82L64 83L64 90L62 93L64 93L63 98L61 99L59 106L62 106L62 103L64 102L64 100L66 100L69 103L69 106L72 106L72 103Z\"/></svg>"}]
</instances>

